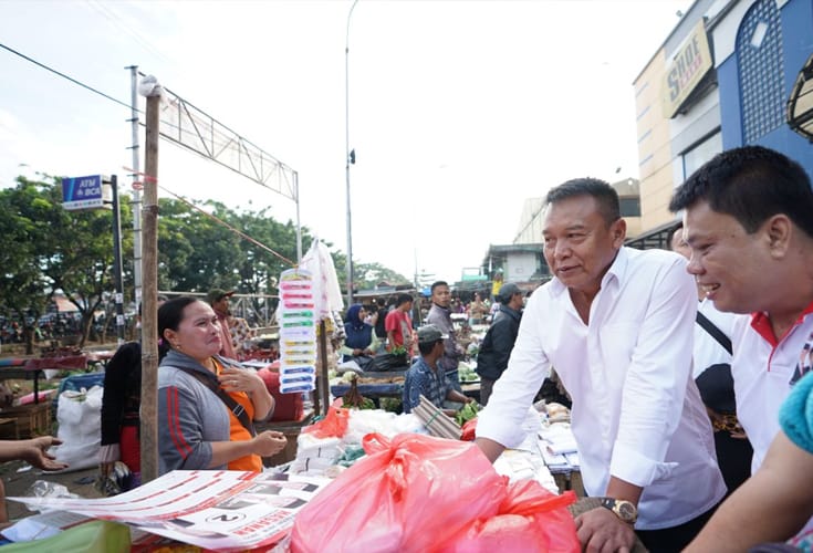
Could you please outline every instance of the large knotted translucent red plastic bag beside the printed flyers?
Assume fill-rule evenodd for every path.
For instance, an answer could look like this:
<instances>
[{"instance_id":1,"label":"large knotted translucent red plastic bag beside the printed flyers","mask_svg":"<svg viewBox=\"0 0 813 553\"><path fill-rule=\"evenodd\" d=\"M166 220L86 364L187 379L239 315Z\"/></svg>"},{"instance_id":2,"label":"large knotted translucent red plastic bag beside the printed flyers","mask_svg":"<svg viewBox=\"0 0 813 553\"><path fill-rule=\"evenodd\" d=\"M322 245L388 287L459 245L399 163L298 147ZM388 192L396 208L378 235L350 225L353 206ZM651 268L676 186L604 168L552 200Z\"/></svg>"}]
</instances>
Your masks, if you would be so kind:
<instances>
[{"instance_id":1,"label":"large knotted translucent red plastic bag beside the printed flyers","mask_svg":"<svg viewBox=\"0 0 813 553\"><path fill-rule=\"evenodd\" d=\"M291 551L430 552L497 514L508 498L473 444L367 435L356 461L299 512Z\"/></svg>"}]
</instances>

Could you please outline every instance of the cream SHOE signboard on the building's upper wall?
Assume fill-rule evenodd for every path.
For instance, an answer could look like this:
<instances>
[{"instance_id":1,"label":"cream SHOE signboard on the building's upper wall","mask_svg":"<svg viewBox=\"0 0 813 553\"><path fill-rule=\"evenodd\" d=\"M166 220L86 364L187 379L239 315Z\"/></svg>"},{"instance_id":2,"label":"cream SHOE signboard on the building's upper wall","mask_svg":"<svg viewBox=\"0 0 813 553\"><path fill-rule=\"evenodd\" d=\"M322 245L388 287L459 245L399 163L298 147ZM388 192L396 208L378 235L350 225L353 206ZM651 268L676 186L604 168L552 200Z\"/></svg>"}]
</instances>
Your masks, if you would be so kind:
<instances>
[{"instance_id":1,"label":"cream SHOE signboard on the building's upper wall","mask_svg":"<svg viewBox=\"0 0 813 553\"><path fill-rule=\"evenodd\" d=\"M661 87L664 117L675 116L712 66L706 22L701 19L680 44L671 61L667 61Z\"/></svg>"}]
</instances>

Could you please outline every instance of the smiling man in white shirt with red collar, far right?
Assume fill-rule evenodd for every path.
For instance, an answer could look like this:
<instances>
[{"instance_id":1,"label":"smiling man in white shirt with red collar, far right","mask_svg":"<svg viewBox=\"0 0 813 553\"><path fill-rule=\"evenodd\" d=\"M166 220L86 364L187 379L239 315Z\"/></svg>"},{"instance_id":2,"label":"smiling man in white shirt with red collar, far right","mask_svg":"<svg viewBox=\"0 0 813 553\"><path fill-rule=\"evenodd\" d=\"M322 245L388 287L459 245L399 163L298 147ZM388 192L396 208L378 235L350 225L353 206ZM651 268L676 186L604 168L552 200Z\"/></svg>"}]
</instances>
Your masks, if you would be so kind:
<instances>
[{"instance_id":1,"label":"smiling man in white shirt with red collar, far right","mask_svg":"<svg viewBox=\"0 0 813 553\"><path fill-rule=\"evenodd\" d=\"M813 347L811 181L784 155L746 146L698 169L675 191L669 209L686 210L688 271L707 299L720 311L750 313L734 323L731 373L757 471L780 430L780 405L811 369L805 359ZM703 535L715 534L726 550L748 549L743 529L773 515L770 505L775 504L775 498L765 497L754 502L750 490L731 495L730 502L744 509L727 501Z\"/></svg>"}]
</instances>

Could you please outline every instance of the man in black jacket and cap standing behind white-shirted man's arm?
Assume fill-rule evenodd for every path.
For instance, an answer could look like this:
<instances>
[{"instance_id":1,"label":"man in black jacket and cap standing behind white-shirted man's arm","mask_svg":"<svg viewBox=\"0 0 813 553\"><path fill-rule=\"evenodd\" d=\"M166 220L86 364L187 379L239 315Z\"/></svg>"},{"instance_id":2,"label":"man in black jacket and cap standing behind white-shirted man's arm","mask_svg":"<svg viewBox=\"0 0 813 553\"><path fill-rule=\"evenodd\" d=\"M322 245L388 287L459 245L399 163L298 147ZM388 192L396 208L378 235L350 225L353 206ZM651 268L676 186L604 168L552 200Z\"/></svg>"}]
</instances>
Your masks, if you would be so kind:
<instances>
[{"instance_id":1,"label":"man in black jacket and cap standing behind white-shirted man's arm","mask_svg":"<svg viewBox=\"0 0 813 553\"><path fill-rule=\"evenodd\" d=\"M477 354L477 374L480 375L480 404L487 405L494 383L508 366L508 358L517 342L520 330L524 296L520 286L507 282L500 288L496 300L499 307L494 320L482 338Z\"/></svg>"}]
</instances>

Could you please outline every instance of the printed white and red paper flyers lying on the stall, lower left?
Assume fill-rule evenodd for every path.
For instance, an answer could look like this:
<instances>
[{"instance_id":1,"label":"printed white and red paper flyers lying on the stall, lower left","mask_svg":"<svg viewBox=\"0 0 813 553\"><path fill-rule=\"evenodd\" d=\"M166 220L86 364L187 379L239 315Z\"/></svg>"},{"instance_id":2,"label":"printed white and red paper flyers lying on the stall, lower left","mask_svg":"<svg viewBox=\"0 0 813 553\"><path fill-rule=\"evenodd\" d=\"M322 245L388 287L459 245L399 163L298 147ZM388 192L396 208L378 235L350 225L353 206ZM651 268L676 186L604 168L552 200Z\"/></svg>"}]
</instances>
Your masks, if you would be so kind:
<instances>
[{"instance_id":1,"label":"printed white and red paper flyers lying on the stall, lower left","mask_svg":"<svg viewBox=\"0 0 813 553\"><path fill-rule=\"evenodd\" d=\"M123 522L199 547L239 551L283 539L296 512L330 482L278 472L176 470L111 498L8 499Z\"/></svg>"}]
</instances>

